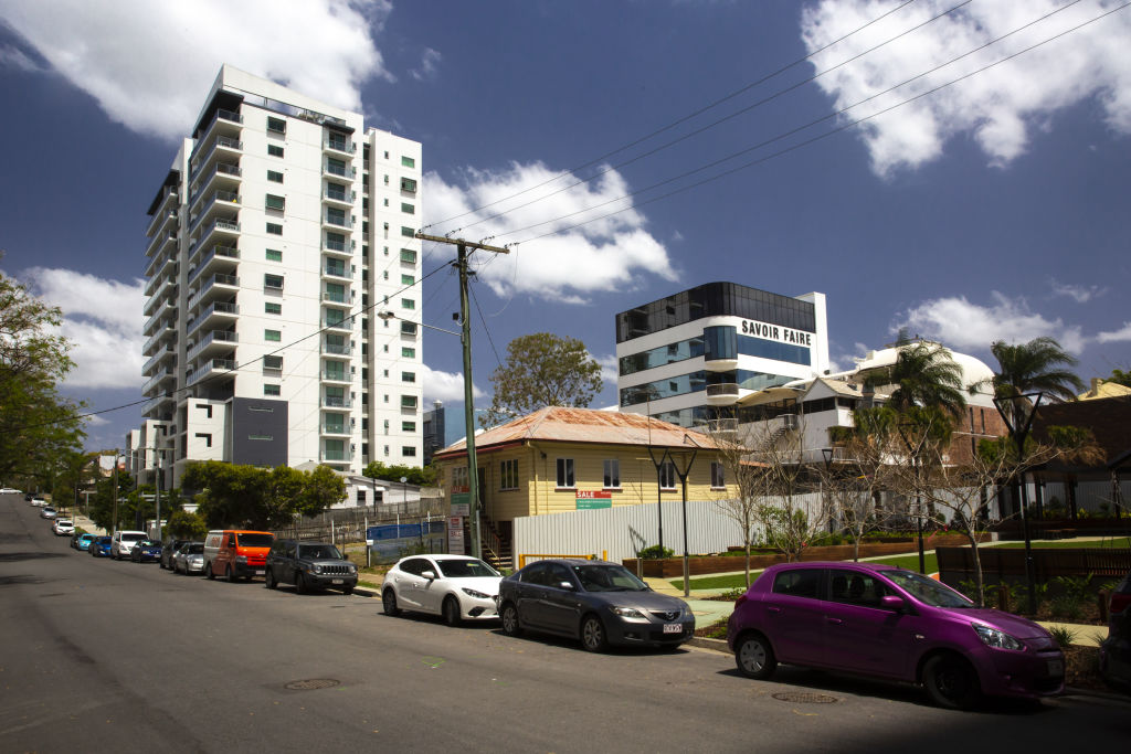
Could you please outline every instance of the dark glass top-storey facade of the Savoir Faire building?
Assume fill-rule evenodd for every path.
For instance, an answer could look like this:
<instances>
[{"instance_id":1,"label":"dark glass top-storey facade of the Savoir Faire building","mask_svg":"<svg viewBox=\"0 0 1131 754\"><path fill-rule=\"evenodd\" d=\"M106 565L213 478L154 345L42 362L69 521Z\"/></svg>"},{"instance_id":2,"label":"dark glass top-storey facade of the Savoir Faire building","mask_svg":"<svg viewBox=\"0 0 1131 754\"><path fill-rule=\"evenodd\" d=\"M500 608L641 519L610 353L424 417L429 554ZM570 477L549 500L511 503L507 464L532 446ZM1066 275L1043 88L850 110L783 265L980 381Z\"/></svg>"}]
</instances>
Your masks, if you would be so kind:
<instances>
[{"instance_id":1,"label":"dark glass top-storey facade of the Savoir Faire building","mask_svg":"<svg viewBox=\"0 0 1131 754\"><path fill-rule=\"evenodd\" d=\"M808 332L817 331L813 304L737 283L706 283L616 315L616 343L685 324L703 317L742 317Z\"/></svg>"}]
</instances>

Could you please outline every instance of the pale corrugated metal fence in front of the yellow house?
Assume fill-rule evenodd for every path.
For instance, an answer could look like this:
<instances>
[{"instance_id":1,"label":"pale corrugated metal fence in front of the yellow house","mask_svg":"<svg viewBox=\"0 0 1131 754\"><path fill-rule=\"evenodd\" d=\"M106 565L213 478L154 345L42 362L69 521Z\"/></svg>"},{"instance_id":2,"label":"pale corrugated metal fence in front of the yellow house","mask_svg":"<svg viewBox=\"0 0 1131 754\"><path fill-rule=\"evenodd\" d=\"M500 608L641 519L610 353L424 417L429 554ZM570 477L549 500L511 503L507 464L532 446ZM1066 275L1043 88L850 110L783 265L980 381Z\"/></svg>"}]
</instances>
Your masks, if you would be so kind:
<instances>
[{"instance_id":1,"label":"pale corrugated metal fence in front of the yellow house","mask_svg":"<svg viewBox=\"0 0 1131 754\"><path fill-rule=\"evenodd\" d=\"M797 495L797 504L817 500ZM812 500L810 500L812 499ZM742 544L742 530L723 512L720 501L688 501L688 552L720 553ZM638 551L659 543L656 503L589 511L569 511L515 519L515 561L524 554L601 555L610 561L636 557ZM683 504L665 501L664 546L683 554Z\"/></svg>"}]
</instances>

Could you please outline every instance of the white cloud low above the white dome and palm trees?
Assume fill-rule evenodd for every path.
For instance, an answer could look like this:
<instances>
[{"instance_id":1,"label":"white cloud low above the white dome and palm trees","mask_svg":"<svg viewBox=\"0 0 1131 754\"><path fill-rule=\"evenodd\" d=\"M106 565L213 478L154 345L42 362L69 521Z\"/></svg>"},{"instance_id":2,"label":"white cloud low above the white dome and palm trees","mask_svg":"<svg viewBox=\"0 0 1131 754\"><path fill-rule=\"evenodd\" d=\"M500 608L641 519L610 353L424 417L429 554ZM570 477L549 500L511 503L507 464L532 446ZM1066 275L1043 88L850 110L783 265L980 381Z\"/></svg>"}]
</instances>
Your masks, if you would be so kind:
<instances>
[{"instance_id":1,"label":"white cloud low above the white dome and palm trees","mask_svg":"<svg viewBox=\"0 0 1131 754\"><path fill-rule=\"evenodd\" d=\"M965 296L926 301L908 311L892 331L906 327L958 349L985 350L994 340L1027 343L1051 336L1067 350L1079 353L1087 343L1079 327L1064 324L1059 318L1045 319L1030 311L1025 298L1011 300L996 291L991 297L988 305L970 303Z\"/></svg>"}]
</instances>

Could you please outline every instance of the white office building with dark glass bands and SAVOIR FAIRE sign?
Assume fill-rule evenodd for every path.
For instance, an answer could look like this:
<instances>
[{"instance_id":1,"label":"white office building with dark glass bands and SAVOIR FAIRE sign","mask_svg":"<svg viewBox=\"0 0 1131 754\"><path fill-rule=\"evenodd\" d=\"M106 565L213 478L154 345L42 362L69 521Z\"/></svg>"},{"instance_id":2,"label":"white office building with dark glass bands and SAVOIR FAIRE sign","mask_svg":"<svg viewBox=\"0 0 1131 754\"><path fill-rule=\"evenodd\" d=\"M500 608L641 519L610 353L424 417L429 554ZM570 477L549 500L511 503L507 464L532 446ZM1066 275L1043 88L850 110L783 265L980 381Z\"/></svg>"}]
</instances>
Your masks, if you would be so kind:
<instances>
[{"instance_id":1,"label":"white office building with dark glass bands and SAVOIR FAIRE sign","mask_svg":"<svg viewBox=\"0 0 1131 754\"><path fill-rule=\"evenodd\" d=\"M620 410L733 425L745 396L829 369L824 294L706 283L616 315Z\"/></svg>"}]
</instances>

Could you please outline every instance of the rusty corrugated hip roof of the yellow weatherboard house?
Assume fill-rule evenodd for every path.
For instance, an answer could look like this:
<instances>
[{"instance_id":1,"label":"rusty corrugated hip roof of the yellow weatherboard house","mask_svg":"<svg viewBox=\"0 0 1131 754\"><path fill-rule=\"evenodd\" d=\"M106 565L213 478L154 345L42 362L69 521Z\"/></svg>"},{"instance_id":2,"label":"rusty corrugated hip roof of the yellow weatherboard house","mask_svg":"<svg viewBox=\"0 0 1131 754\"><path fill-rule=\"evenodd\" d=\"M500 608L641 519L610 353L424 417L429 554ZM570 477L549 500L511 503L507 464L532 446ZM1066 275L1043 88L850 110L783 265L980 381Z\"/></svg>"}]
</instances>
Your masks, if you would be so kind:
<instances>
[{"instance_id":1,"label":"rusty corrugated hip roof of the yellow weatherboard house","mask_svg":"<svg viewBox=\"0 0 1131 754\"><path fill-rule=\"evenodd\" d=\"M475 448L487 449L511 442L593 442L608 445L656 448L715 448L706 434L640 414L601 411L592 408L551 406L475 435ZM466 452L464 440L435 453L437 457Z\"/></svg>"}]
</instances>

